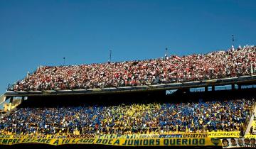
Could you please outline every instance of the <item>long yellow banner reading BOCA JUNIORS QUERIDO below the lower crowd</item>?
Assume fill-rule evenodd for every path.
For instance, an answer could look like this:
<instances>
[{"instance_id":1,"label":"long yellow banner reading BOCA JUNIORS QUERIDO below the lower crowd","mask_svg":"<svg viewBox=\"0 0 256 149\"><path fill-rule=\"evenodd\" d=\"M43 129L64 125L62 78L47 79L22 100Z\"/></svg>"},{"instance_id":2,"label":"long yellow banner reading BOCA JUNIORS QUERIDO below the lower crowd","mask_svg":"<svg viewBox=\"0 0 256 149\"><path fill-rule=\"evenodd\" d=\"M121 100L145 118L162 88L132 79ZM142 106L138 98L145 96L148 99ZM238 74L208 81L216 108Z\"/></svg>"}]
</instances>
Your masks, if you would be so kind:
<instances>
[{"instance_id":1,"label":"long yellow banner reading BOCA JUNIORS QUERIDO below the lower crowd","mask_svg":"<svg viewBox=\"0 0 256 149\"><path fill-rule=\"evenodd\" d=\"M0 138L0 145L14 145L19 143L44 143L49 145L64 144L100 144L100 145L122 145L122 146L173 146L173 145L221 145L220 140L215 138L148 138L148 139L100 139L100 138Z\"/></svg>"}]
</instances>

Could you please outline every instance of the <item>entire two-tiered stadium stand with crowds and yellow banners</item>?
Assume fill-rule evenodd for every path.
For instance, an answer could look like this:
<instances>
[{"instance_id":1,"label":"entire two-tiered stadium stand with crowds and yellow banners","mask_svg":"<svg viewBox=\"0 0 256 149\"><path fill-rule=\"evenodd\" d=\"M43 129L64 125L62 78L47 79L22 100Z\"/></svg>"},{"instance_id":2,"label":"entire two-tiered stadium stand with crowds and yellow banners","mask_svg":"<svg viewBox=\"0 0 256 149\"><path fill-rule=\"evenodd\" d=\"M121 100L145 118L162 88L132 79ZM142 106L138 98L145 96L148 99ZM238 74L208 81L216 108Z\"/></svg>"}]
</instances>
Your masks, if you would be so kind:
<instances>
[{"instance_id":1,"label":"entire two-tiered stadium stand with crowds and yellow banners","mask_svg":"<svg viewBox=\"0 0 256 149\"><path fill-rule=\"evenodd\" d=\"M255 78L251 45L206 55L38 67L4 94L9 106L15 99L21 104L1 114L0 145L227 148L242 141L239 147L252 147ZM229 87L218 89L222 85Z\"/></svg>"}]
</instances>

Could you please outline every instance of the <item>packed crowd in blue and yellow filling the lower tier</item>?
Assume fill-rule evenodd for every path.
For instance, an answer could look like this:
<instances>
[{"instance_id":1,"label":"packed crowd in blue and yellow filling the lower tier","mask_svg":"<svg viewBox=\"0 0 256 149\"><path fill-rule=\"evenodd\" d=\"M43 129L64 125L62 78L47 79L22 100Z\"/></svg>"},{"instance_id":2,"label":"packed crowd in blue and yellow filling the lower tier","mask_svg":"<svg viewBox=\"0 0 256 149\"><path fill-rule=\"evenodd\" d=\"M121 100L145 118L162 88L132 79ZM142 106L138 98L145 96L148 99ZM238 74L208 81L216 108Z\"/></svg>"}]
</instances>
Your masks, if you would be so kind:
<instances>
[{"instance_id":1,"label":"packed crowd in blue and yellow filling the lower tier","mask_svg":"<svg viewBox=\"0 0 256 149\"><path fill-rule=\"evenodd\" d=\"M255 99L16 109L0 120L11 134L159 134L242 131Z\"/></svg>"}]
</instances>

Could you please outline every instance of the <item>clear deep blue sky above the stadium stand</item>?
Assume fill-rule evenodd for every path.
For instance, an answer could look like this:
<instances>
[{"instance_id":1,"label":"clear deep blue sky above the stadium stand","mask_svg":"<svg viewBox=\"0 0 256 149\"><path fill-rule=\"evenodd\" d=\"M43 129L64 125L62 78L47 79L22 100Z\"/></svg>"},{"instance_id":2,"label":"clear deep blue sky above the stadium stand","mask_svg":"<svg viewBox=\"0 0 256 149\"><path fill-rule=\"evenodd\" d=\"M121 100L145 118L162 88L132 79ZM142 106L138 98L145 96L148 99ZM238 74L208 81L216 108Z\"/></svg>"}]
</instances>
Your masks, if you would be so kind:
<instances>
[{"instance_id":1,"label":"clear deep blue sky above the stadium stand","mask_svg":"<svg viewBox=\"0 0 256 149\"><path fill-rule=\"evenodd\" d=\"M0 94L39 65L144 60L255 45L256 1L0 0Z\"/></svg>"}]
</instances>

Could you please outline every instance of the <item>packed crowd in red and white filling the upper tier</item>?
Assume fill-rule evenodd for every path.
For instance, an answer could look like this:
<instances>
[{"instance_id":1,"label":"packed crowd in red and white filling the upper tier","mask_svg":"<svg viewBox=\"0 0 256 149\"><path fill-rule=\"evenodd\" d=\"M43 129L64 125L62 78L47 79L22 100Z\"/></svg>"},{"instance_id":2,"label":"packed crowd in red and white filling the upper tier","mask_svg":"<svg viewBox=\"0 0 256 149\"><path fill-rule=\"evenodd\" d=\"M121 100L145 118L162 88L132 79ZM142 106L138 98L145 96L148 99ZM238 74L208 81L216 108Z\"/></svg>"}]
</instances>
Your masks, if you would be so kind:
<instances>
[{"instance_id":1,"label":"packed crowd in red and white filling the upper tier","mask_svg":"<svg viewBox=\"0 0 256 149\"><path fill-rule=\"evenodd\" d=\"M156 60L39 67L10 90L94 89L256 74L256 46Z\"/></svg>"}]
</instances>

